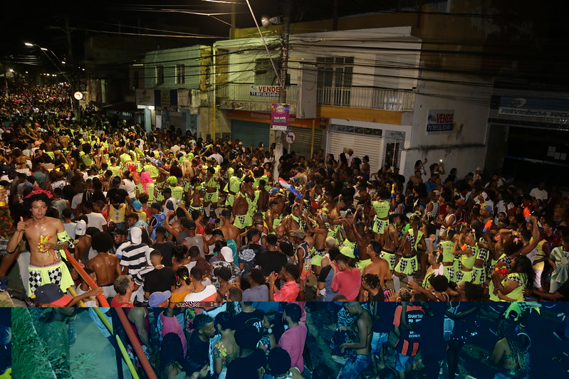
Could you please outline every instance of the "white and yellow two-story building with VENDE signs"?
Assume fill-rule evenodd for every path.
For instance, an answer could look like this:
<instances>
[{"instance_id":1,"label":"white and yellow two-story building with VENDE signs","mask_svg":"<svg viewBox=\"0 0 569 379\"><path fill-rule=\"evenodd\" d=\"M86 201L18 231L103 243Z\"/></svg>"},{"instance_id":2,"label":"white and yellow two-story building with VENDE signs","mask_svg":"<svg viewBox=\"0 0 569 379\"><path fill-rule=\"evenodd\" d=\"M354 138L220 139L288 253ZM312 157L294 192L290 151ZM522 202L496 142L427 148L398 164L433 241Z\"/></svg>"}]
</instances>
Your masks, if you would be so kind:
<instances>
[{"instance_id":1,"label":"white and yellow two-story building with VENDE signs","mask_svg":"<svg viewBox=\"0 0 569 379\"><path fill-rule=\"evenodd\" d=\"M291 150L308 156L324 149L338 159L353 149L369 157L372 171L389 164L405 176L425 157L463 173L484 164L489 104L466 93L489 99L490 90L473 90L461 74L424 70L426 48L414 34L412 26L396 26L291 35L287 102L297 137ZM265 41L278 68L280 40ZM267 146L278 82L263 41L219 41L214 57L218 130Z\"/></svg>"}]
</instances>

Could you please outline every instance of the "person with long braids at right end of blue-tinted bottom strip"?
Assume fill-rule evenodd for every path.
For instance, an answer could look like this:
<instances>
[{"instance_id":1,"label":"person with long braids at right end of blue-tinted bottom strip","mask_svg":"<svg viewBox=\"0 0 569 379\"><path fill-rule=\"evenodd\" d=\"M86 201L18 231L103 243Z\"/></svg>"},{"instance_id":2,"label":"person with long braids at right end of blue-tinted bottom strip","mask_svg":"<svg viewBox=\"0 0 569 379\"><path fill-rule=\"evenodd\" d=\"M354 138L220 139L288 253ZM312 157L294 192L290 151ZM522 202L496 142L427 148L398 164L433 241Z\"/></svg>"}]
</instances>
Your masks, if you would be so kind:
<instances>
[{"instance_id":1,"label":"person with long braids at right end of blue-tinted bottom strip","mask_svg":"<svg viewBox=\"0 0 569 379\"><path fill-rule=\"evenodd\" d=\"M498 324L498 338L488 363L496 365L498 373L494 379L529 378L527 353L529 345L526 334L518 335L516 325L510 319L502 319Z\"/></svg>"}]
</instances>

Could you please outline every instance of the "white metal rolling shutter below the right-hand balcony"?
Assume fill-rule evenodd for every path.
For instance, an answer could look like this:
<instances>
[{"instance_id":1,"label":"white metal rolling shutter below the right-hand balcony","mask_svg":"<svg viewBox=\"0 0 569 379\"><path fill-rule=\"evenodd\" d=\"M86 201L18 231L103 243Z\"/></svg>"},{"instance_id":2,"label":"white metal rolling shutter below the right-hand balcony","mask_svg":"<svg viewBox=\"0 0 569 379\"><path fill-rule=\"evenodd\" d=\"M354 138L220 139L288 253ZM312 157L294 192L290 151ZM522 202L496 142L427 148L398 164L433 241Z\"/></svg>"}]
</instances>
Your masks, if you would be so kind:
<instances>
[{"instance_id":1,"label":"white metal rolling shutter below the right-hand balcony","mask_svg":"<svg viewBox=\"0 0 569 379\"><path fill-rule=\"evenodd\" d=\"M362 156L370 157L370 173L377 173L380 169L380 157L382 154L382 140L379 136L366 136L363 134L330 132L330 144L328 152L334 154L334 159L340 159L344 148L354 149L354 156L362 159Z\"/></svg>"}]
</instances>

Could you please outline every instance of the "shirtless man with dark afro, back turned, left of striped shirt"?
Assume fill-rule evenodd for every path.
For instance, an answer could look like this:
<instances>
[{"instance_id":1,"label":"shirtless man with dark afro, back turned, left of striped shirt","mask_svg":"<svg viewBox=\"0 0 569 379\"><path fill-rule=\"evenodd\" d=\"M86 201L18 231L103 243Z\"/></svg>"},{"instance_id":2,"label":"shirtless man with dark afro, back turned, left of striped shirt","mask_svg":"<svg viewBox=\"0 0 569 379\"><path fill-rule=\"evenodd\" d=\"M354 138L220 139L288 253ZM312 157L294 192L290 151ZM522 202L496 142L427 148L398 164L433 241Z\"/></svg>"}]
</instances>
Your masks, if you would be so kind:
<instances>
[{"instance_id":1,"label":"shirtless man with dark afro, back turned, left of striped shirt","mask_svg":"<svg viewBox=\"0 0 569 379\"><path fill-rule=\"evenodd\" d=\"M115 297L115 280L120 277L120 259L110 254L109 250L113 247L115 241L108 233L97 233L93 236L93 249L98 252L92 259L87 262L87 267L93 269L97 275L97 284L103 287L105 297Z\"/></svg>"}]
</instances>

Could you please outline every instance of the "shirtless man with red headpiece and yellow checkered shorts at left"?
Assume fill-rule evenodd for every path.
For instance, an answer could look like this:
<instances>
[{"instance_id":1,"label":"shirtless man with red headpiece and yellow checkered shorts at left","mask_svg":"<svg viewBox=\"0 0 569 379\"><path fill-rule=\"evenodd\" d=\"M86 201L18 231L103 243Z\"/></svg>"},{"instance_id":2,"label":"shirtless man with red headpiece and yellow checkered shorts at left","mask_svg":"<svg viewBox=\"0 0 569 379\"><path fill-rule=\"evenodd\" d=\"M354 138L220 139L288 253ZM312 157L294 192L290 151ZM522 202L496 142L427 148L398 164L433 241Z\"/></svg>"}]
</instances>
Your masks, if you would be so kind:
<instances>
[{"instance_id":1,"label":"shirtless man with red headpiece and yellow checkered shorts at left","mask_svg":"<svg viewBox=\"0 0 569 379\"><path fill-rule=\"evenodd\" d=\"M73 279L66 264L61 260L65 257L64 249L71 245L71 237L67 234L63 223L58 218L46 217L48 204L53 196L48 191L36 189L24 198L24 206L31 212L31 218L20 218L16 233L10 237L6 250L14 253L24 235L31 252L28 271L28 296L42 284L57 284L63 292L73 285Z\"/></svg>"}]
</instances>

